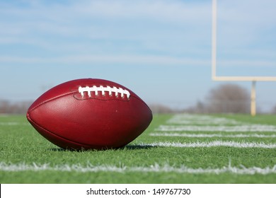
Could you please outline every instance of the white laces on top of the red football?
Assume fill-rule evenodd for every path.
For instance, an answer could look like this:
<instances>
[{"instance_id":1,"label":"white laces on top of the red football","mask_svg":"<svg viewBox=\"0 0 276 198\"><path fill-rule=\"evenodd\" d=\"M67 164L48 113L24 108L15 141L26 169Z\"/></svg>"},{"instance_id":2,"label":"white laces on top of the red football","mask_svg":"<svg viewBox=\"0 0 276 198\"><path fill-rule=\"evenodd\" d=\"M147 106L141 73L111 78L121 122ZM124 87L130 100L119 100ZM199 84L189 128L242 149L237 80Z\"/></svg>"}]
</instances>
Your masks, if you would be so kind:
<instances>
[{"instance_id":1,"label":"white laces on top of the red football","mask_svg":"<svg viewBox=\"0 0 276 198\"><path fill-rule=\"evenodd\" d=\"M88 93L88 96L91 97L91 92L95 92L95 95L98 95L98 92L101 92L102 95L105 95L105 91L108 92L108 94L111 96L112 93L115 93L115 96L118 97L118 95L121 95L121 98L124 98L124 95L127 95L127 98L130 98L130 92L122 89L122 88L117 88L115 86L113 86L113 88L111 88L110 86L93 86L93 87L79 87L79 93L81 93L81 97L84 98L84 92Z\"/></svg>"}]
</instances>

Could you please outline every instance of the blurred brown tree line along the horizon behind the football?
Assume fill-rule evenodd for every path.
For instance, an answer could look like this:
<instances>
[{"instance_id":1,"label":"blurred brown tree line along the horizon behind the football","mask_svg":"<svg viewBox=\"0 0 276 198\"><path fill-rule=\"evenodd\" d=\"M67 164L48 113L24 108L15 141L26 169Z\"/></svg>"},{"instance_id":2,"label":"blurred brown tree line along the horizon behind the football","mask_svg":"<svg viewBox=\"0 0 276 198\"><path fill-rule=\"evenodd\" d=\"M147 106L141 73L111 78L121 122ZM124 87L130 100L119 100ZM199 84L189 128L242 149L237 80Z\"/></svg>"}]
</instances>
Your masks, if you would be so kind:
<instances>
[{"instance_id":1,"label":"blurred brown tree line along the horizon behind the football","mask_svg":"<svg viewBox=\"0 0 276 198\"><path fill-rule=\"evenodd\" d=\"M205 101L198 101L196 105L182 110L159 104L149 106L154 113L249 113L251 107L250 93L246 88L231 83L212 88ZM32 103L33 101L12 103L0 98L0 114L25 114ZM276 114L276 105L272 107L271 113Z\"/></svg>"}]
</instances>

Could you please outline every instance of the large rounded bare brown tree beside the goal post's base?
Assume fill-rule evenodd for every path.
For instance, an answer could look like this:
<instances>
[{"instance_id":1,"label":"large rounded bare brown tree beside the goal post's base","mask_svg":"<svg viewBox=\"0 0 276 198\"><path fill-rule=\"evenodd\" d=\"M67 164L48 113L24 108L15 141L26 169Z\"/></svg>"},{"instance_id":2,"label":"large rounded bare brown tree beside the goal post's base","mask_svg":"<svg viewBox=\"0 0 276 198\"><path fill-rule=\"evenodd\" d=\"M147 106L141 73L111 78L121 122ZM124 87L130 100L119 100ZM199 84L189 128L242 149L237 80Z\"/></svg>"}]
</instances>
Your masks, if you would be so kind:
<instances>
[{"instance_id":1,"label":"large rounded bare brown tree beside the goal post's base","mask_svg":"<svg viewBox=\"0 0 276 198\"><path fill-rule=\"evenodd\" d=\"M248 113L250 94L236 84L223 84L213 88L207 96L208 111L214 113Z\"/></svg>"}]
</instances>

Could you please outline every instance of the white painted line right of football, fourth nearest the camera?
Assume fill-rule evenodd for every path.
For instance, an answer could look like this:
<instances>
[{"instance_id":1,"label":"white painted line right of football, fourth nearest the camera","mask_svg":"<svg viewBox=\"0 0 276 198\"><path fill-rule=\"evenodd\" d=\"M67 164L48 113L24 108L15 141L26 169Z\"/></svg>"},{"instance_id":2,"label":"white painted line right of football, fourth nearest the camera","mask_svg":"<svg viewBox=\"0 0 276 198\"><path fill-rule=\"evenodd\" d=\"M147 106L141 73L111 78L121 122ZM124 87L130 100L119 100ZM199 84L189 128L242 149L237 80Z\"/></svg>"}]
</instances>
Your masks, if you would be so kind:
<instances>
[{"instance_id":1,"label":"white painted line right of football, fourth nearest the camera","mask_svg":"<svg viewBox=\"0 0 276 198\"><path fill-rule=\"evenodd\" d=\"M276 126L250 124L241 126L160 125L159 132L276 132Z\"/></svg>"}]
</instances>

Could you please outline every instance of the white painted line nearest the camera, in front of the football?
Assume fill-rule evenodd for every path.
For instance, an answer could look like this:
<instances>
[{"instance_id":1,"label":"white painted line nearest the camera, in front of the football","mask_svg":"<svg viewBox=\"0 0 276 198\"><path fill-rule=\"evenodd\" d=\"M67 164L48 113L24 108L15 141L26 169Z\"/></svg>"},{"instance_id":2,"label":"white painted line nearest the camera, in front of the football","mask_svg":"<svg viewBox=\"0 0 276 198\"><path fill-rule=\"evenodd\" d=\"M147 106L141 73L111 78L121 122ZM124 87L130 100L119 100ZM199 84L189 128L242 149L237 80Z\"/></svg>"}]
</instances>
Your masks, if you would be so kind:
<instances>
[{"instance_id":1,"label":"white painted line nearest the camera, in front of the football","mask_svg":"<svg viewBox=\"0 0 276 198\"><path fill-rule=\"evenodd\" d=\"M276 173L276 165L272 167L249 167L246 168L243 165L240 167L232 167L231 164L222 168L188 168L185 165L180 167L171 165L150 165L150 166L116 166L116 165L55 165L50 166L48 164L38 165L33 163L32 165L26 164L7 164L0 163L0 171L6 172L20 172L20 171L57 171L57 172L77 172L77 173L98 173L98 172L115 172L115 173L127 173L127 172L140 172L140 173L190 173L190 174L222 174L233 173L238 175L254 175L262 174L267 175Z\"/></svg>"}]
</instances>

